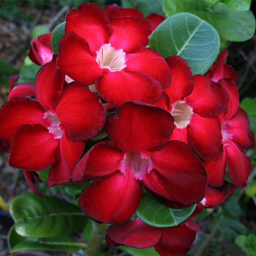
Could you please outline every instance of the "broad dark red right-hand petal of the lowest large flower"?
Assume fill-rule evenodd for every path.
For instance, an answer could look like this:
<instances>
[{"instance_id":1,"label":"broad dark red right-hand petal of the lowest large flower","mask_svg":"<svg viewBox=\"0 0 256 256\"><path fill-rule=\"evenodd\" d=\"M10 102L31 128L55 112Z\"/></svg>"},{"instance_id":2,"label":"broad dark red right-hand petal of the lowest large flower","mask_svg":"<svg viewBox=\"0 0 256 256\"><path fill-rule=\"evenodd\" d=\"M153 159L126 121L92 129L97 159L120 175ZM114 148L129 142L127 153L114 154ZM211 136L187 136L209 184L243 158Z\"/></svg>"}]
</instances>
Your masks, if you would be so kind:
<instances>
[{"instance_id":1,"label":"broad dark red right-hand petal of the lowest large flower","mask_svg":"<svg viewBox=\"0 0 256 256\"><path fill-rule=\"evenodd\" d=\"M158 182L172 195L170 200L190 205L203 199L207 173L187 144L169 141L161 151L151 152L149 156L158 172Z\"/></svg>"}]
</instances>

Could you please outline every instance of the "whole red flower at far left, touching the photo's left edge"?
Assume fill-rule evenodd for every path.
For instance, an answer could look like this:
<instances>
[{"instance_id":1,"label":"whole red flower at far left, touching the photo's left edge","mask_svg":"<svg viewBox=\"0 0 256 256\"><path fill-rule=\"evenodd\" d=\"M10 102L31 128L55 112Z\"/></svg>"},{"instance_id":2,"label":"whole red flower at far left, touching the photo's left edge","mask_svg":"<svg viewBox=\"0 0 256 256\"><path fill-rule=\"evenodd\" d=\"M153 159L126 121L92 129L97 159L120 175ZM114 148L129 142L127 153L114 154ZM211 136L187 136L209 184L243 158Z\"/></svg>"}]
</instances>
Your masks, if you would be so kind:
<instances>
[{"instance_id":1,"label":"whole red flower at far left, touching the photo's left edge","mask_svg":"<svg viewBox=\"0 0 256 256\"><path fill-rule=\"evenodd\" d=\"M105 114L99 98L86 87L64 86L56 56L35 78L37 101L12 98L0 109L0 139L10 147L9 164L25 170L51 165L48 185L70 180L84 142L102 129Z\"/></svg>"}]
</instances>

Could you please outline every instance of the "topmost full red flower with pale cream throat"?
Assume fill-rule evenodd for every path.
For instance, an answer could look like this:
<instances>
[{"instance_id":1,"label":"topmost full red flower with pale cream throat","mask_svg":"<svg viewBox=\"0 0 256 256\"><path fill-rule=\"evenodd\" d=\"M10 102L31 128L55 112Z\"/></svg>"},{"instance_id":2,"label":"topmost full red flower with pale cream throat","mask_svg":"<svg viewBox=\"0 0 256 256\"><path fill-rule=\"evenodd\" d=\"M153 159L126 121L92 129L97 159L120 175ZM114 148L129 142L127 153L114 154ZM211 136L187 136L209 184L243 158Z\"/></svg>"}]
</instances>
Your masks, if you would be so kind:
<instances>
[{"instance_id":1,"label":"topmost full red flower with pale cream throat","mask_svg":"<svg viewBox=\"0 0 256 256\"><path fill-rule=\"evenodd\" d=\"M109 20L97 5L84 3L67 15L57 65L80 84L95 83L109 103L157 102L171 77L163 57L146 49L151 31L141 17Z\"/></svg>"}]
</instances>

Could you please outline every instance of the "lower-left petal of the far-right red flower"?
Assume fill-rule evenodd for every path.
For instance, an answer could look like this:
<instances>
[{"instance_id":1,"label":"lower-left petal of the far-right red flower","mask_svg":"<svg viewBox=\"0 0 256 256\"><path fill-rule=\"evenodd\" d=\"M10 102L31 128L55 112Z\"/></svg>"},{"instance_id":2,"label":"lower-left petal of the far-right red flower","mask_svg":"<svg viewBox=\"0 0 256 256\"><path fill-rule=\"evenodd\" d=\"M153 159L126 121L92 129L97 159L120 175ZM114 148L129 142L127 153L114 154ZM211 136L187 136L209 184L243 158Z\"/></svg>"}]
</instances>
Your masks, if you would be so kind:
<instances>
[{"instance_id":1,"label":"lower-left petal of the far-right red flower","mask_svg":"<svg viewBox=\"0 0 256 256\"><path fill-rule=\"evenodd\" d=\"M226 151L223 150L221 159L217 161L202 161L202 163L208 173L209 184L215 187L222 186L226 170Z\"/></svg>"}]
</instances>

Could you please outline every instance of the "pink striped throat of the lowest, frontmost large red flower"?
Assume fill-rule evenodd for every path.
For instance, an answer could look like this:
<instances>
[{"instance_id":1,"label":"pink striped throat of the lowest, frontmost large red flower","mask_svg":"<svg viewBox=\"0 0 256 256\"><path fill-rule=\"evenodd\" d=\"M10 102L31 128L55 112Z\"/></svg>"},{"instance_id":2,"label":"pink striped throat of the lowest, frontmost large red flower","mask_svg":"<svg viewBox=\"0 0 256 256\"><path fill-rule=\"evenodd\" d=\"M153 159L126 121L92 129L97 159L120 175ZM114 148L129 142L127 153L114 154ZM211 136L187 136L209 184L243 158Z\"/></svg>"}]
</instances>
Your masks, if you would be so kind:
<instances>
[{"instance_id":1,"label":"pink striped throat of the lowest, frontmost large red flower","mask_svg":"<svg viewBox=\"0 0 256 256\"><path fill-rule=\"evenodd\" d=\"M143 176L152 169L152 161L150 157L142 157L138 152L128 152L120 169L123 174L131 172L136 180L143 180Z\"/></svg>"}]
</instances>

